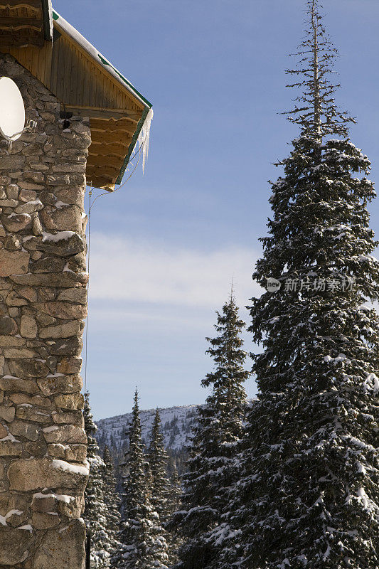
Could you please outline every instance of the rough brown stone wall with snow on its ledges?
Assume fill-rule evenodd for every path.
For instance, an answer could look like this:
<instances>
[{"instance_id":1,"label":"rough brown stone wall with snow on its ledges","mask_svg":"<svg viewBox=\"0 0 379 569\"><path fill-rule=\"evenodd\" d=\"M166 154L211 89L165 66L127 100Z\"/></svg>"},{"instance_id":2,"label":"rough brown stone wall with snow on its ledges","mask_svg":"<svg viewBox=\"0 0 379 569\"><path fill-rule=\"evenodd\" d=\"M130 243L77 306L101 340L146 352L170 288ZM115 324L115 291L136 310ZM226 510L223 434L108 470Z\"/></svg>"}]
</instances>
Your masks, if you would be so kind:
<instances>
[{"instance_id":1,"label":"rough brown stone wall with snow on its ledges","mask_svg":"<svg viewBox=\"0 0 379 569\"><path fill-rule=\"evenodd\" d=\"M0 75L38 124L12 149L0 142L0 567L82 569L90 128L63 125L58 100L10 55Z\"/></svg>"}]
</instances>

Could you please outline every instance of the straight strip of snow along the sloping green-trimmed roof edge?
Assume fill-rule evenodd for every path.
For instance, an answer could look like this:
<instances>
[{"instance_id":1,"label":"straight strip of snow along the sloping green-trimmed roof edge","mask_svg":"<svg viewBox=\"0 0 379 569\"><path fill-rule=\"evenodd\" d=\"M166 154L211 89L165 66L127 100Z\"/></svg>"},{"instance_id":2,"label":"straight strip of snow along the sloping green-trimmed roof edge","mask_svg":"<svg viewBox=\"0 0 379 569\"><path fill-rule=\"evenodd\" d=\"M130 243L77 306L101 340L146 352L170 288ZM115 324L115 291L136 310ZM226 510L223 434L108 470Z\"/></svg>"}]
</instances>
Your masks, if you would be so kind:
<instances>
[{"instance_id":1,"label":"straight strip of snow along the sloping green-trimmed roof edge","mask_svg":"<svg viewBox=\"0 0 379 569\"><path fill-rule=\"evenodd\" d=\"M124 75L122 75L122 73L120 73L119 70L117 70L112 65L112 63L110 63L110 61L108 61L107 58L105 58L104 55L102 55L102 53L100 53L100 51L97 51L97 49L94 46L92 46L92 43L87 41L85 37L82 36L80 32L78 32L78 30L76 30L73 26L71 26L71 24L68 23L68 21L66 21L65 18L60 16L60 14L58 14L58 12L56 12L55 10L53 10L53 20L56 23L58 23L58 26L60 26L60 28L62 28L63 31L65 31L65 33L67 33L68 36L70 36L70 38L73 38L73 40L76 43L78 43L79 46L81 46L85 51L87 51L87 53L91 55L91 57L95 61L97 61L99 65L101 65L105 70L107 70L107 72L110 73L114 77L114 79L116 79L119 83L121 83L124 87L126 87L127 90L131 92L132 95L134 95L134 97L137 97L137 99L143 103L143 105L146 105L147 107L149 107L149 109L151 109L152 107L151 102L145 99L145 97L141 95L139 91L137 91L134 85L132 85L132 83L130 83L130 81L127 80L127 78L125 78Z\"/></svg>"}]
</instances>

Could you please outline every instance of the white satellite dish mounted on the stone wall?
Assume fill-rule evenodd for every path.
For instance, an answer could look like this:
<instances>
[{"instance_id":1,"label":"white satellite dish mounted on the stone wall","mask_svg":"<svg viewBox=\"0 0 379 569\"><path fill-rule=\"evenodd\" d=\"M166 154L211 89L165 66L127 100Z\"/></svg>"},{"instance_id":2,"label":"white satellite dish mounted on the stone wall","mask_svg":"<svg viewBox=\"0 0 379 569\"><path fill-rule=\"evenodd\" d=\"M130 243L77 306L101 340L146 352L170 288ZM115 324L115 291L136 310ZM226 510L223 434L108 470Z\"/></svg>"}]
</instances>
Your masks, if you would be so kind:
<instances>
[{"instance_id":1,"label":"white satellite dish mounted on the stone wall","mask_svg":"<svg viewBox=\"0 0 379 569\"><path fill-rule=\"evenodd\" d=\"M0 78L0 133L10 142L21 137L25 127L25 107L16 83Z\"/></svg>"}]
</instances>

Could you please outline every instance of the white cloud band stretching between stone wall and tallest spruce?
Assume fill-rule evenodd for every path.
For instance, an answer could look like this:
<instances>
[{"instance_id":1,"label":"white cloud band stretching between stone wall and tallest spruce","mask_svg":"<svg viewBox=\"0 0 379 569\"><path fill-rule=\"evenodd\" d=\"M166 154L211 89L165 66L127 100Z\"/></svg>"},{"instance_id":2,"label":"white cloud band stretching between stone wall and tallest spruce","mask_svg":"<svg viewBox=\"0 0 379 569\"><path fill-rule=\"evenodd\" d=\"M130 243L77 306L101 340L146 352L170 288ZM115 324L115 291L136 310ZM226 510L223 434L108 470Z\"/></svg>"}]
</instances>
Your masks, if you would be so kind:
<instances>
[{"instance_id":1,"label":"white cloud band stretching between stone wall and tallest spruce","mask_svg":"<svg viewBox=\"0 0 379 569\"><path fill-rule=\"evenodd\" d=\"M220 308L232 279L237 301L260 294L252 282L255 251L195 250L117 235L91 237L91 299Z\"/></svg>"}]
</instances>

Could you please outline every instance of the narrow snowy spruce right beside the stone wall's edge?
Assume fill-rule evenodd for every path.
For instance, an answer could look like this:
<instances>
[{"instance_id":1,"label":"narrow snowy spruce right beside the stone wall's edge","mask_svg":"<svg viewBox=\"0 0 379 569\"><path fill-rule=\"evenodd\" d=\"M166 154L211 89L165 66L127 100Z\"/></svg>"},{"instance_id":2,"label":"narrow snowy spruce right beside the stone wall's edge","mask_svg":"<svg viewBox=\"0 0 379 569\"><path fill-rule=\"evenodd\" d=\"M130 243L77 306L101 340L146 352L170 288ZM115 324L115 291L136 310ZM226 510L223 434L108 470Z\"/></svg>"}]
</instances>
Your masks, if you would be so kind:
<instances>
[{"instance_id":1,"label":"narrow snowy spruce right beside the stone wall's edge","mask_svg":"<svg viewBox=\"0 0 379 569\"><path fill-rule=\"evenodd\" d=\"M87 434L87 460L90 465L90 477L85 489L85 511L83 519L87 531L91 533L91 566L107 568L110 561L112 536L107 532L107 507L105 506L105 463L99 456L99 447L95 439L97 427L90 409L90 394L85 393L83 410L85 432Z\"/></svg>"}]
</instances>

